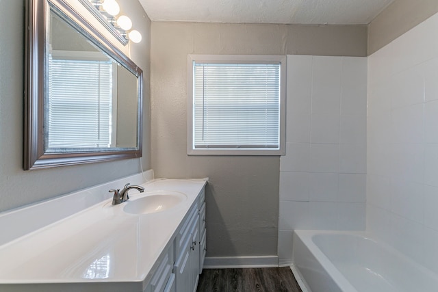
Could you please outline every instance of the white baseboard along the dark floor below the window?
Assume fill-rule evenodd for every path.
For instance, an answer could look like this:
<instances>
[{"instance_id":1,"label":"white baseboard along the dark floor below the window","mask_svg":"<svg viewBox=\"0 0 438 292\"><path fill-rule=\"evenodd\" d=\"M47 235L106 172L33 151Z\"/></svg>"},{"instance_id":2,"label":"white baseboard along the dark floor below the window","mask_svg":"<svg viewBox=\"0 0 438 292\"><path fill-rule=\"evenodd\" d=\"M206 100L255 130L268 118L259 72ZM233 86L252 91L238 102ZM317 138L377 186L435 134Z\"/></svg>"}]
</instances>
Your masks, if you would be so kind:
<instances>
[{"instance_id":1,"label":"white baseboard along the dark floor below the window","mask_svg":"<svg viewBox=\"0 0 438 292\"><path fill-rule=\"evenodd\" d=\"M278 256L214 256L205 258L204 269L278 267Z\"/></svg>"}]
</instances>

